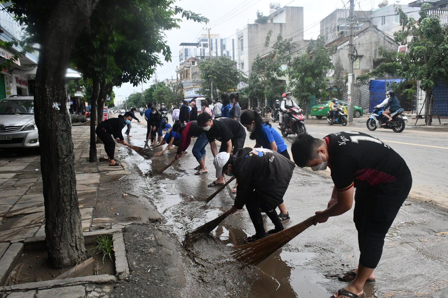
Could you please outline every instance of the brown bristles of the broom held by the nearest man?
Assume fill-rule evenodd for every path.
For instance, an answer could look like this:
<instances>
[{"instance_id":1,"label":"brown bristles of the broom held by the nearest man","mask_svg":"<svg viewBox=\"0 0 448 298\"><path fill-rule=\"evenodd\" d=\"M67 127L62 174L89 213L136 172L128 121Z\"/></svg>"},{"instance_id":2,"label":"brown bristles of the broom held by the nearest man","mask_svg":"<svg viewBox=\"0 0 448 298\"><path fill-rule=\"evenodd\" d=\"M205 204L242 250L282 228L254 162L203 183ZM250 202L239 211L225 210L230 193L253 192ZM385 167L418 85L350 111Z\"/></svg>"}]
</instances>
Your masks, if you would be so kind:
<instances>
[{"instance_id":1,"label":"brown bristles of the broom held by the nearest man","mask_svg":"<svg viewBox=\"0 0 448 298\"><path fill-rule=\"evenodd\" d=\"M233 257L246 264L258 264L272 253L276 252L283 245L292 240L295 236L299 235L306 228L314 224L314 219L316 216L311 216L310 218L304 220L301 223L293 227L289 227L280 231L278 233L269 235L262 239L256 240L252 243L248 243L235 249L231 254Z\"/></svg>"}]
</instances>

